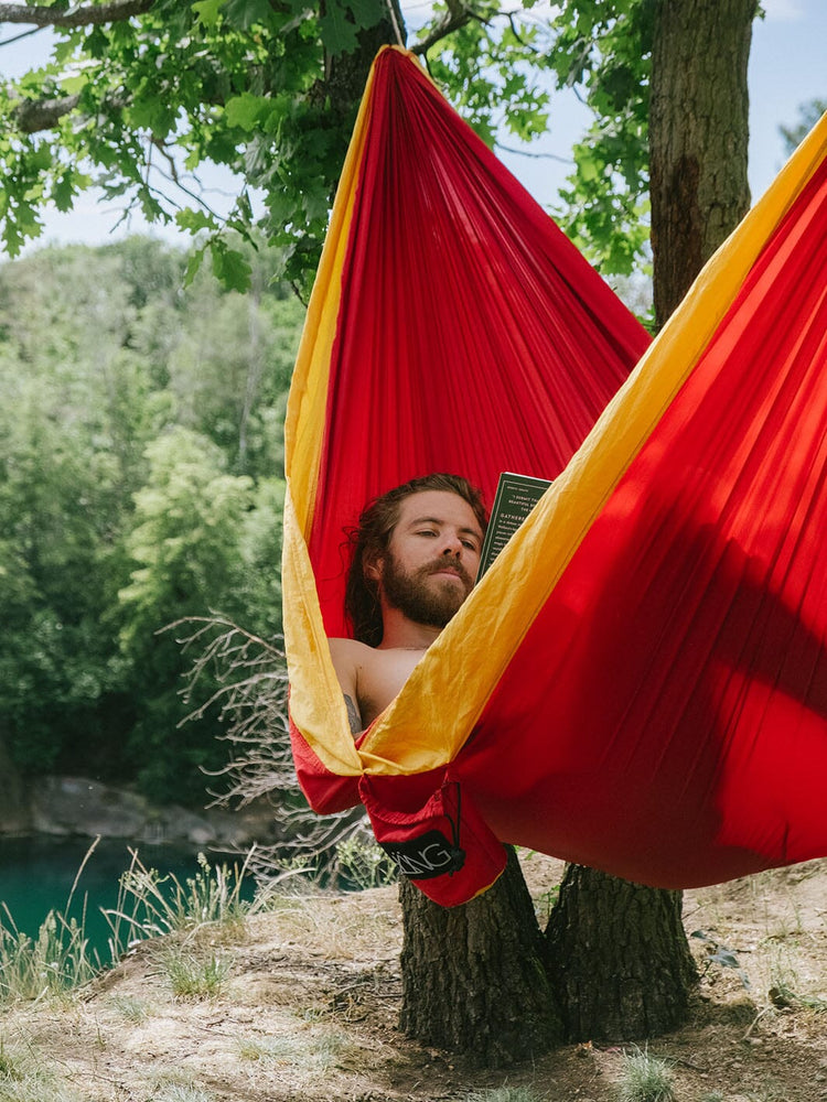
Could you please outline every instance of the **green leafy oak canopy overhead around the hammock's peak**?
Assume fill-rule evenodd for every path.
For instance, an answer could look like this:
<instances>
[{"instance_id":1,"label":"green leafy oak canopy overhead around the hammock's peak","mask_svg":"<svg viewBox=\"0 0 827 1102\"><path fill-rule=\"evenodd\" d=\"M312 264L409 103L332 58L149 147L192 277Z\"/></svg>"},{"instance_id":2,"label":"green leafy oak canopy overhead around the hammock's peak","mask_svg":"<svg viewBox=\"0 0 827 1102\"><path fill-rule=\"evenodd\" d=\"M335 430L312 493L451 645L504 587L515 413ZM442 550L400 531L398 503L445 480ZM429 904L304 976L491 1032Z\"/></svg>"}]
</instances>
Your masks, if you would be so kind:
<instances>
[{"instance_id":1,"label":"green leafy oak canopy overhead around the hammock's peak","mask_svg":"<svg viewBox=\"0 0 827 1102\"><path fill-rule=\"evenodd\" d=\"M574 150L562 219L606 270L627 272L645 241L646 88L652 0L438 3L411 48L490 142L548 122L549 83L576 86L595 115ZM375 51L404 41L395 0L110 0L0 3L0 23L49 29L49 61L0 89L2 238L14 256L41 208L108 198L201 235L216 274L245 289L236 235L262 234L289 279L315 269L355 110ZM232 171L213 208L207 163Z\"/></svg>"}]
</instances>

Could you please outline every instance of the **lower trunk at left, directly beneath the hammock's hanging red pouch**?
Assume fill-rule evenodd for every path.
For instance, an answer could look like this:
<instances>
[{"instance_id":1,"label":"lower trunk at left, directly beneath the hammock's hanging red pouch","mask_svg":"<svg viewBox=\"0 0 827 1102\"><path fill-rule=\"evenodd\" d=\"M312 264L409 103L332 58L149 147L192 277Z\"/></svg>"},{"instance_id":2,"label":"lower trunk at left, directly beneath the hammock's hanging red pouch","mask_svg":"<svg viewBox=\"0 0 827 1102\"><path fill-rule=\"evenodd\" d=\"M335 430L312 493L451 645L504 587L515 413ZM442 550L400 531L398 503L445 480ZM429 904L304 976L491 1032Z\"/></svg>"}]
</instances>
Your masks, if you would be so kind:
<instances>
[{"instance_id":1,"label":"lower trunk at left, directly beneath the hammock's hanging red pouch","mask_svg":"<svg viewBox=\"0 0 827 1102\"><path fill-rule=\"evenodd\" d=\"M516 854L484 895L447 909L402 880L407 1036L506 1067L562 1039L543 936Z\"/></svg>"}]
</instances>

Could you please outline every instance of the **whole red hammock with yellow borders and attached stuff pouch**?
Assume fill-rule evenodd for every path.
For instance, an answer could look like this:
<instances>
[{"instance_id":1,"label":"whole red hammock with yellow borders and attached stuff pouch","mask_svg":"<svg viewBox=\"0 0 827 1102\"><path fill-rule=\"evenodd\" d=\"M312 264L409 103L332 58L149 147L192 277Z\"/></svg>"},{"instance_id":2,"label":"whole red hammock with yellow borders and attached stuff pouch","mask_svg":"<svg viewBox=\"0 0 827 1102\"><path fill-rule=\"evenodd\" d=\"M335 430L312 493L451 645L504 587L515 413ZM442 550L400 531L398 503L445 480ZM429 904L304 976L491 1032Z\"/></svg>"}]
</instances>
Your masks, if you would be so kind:
<instances>
[{"instance_id":1,"label":"whole red hammock with yellow borders and attached stuff pouch","mask_svg":"<svg viewBox=\"0 0 827 1102\"><path fill-rule=\"evenodd\" d=\"M501 842L675 888L827 854L826 147L827 118L646 352L410 55L377 57L288 407L291 734L312 806L362 799L438 901ZM504 469L555 483L354 744L343 530Z\"/></svg>"}]
</instances>

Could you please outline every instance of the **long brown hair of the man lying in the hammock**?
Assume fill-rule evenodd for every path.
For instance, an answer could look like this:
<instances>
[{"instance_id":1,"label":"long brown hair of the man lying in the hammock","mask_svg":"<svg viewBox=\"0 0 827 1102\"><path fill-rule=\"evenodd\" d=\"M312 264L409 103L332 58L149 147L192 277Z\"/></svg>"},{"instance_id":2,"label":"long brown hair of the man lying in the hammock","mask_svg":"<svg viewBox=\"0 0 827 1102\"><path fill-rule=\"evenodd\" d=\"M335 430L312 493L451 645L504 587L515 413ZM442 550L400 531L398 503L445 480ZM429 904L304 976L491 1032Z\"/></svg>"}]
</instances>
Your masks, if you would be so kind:
<instances>
[{"instance_id":1,"label":"long brown hair of the man lying in the hammock","mask_svg":"<svg viewBox=\"0 0 827 1102\"><path fill-rule=\"evenodd\" d=\"M370 647L377 647L382 642L384 628L378 583L365 577L365 564L382 559L387 553L402 501L412 494L425 490L457 494L474 510L483 532L487 527L488 518L482 494L460 475L433 474L411 478L375 498L363 509L358 527L347 533L352 559L345 587L345 613L353 627L353 637Z\"/></svg>"}]
</instances>

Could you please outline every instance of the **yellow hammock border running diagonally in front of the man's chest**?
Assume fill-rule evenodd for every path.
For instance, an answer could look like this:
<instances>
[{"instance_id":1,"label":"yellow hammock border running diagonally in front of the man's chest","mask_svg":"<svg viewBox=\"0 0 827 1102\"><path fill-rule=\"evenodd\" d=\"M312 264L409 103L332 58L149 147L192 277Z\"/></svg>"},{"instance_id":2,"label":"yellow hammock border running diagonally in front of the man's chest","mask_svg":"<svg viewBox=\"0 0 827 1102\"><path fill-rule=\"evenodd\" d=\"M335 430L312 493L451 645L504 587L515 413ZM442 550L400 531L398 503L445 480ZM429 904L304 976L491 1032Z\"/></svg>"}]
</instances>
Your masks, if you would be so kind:
<instances>
[{"instance_id":1,"label":"yellow hammock border running diagonally in front of the man's chest","mask_svg":"<svg viewBox=\"0 0 827 1102\"><path fill-rule=\"evenodd\" d=\"M827 115L707 262L566 471L376 722L359 750L365 771L421 773L457 756L583 536L825 152Z\"/></svg>"}]
</instances>

